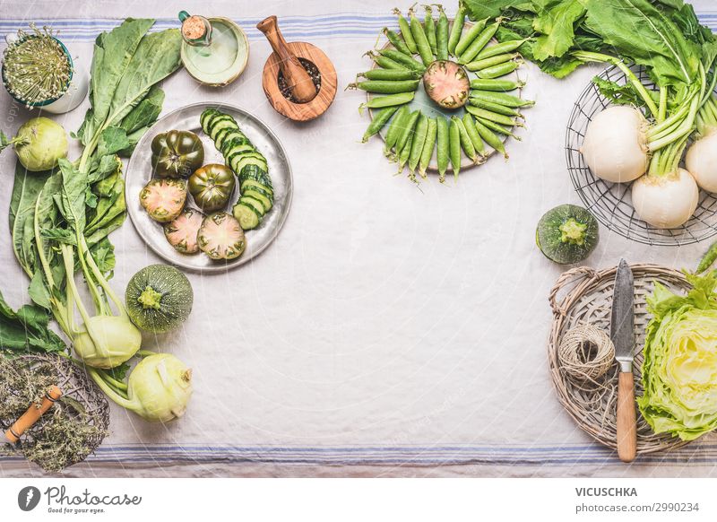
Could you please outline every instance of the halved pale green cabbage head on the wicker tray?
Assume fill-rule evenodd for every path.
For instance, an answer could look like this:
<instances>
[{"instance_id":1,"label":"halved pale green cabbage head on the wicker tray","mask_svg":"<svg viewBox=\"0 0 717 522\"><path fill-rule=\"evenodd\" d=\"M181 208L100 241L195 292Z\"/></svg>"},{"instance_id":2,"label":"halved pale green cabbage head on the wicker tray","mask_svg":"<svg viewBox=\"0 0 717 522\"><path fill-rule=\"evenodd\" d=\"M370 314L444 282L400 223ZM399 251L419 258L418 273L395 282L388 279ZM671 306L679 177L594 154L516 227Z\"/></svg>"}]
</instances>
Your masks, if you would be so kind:
<instances>
[{"instance_id":1,"label":"halved pale green cabbage head on the wicker tray","mask_svg":"<svg viewBox=\"0 0 717 522\"><path fill-rule=\"evenodd\" d=\"M693 440L717 428L717 276L687 274L687 296L655 283L648 298L637 405L655 433Z\"/></svg>"}]
</instances>

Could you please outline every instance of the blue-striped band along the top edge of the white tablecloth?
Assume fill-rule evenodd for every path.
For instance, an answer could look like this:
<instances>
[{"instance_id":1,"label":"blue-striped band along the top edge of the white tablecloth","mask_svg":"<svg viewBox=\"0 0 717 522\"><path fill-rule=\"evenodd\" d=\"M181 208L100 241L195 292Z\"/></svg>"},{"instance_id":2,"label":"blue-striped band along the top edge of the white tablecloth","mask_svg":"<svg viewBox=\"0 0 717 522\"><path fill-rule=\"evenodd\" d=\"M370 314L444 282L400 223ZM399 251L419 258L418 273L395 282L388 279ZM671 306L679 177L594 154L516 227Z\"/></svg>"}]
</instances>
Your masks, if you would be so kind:
<instances>
[{"instance_id":1,"label":"blue-striped band along the top edge of the white tablecloth","mask_svg":"<svg viewBox=\"0 0 717 522\"><path fill-rule=\"evenodd\" d=\"M700 22L717 30L717 12L698 13ZM263 35L256 30L258 18L238 18L235 22L246 31L248 39L263 39ZM27 28L29 22L38 26L48 25L60 30L60 37L74 41L92 41L103 30L112 30L117 27L120 18L61 18L61 19L5 19L0 21L0 34L7 34L18 29ZM178 27L176 19L158 19L153 30L163 30ZM322 38L340 37L356 38L363 36L376 36L377 31L384 26L395 26L395 16L384 14L358 14L334 13L315 16L285 16L281 18L281 31L289 38Z\"/></svg>"}]
</instances>

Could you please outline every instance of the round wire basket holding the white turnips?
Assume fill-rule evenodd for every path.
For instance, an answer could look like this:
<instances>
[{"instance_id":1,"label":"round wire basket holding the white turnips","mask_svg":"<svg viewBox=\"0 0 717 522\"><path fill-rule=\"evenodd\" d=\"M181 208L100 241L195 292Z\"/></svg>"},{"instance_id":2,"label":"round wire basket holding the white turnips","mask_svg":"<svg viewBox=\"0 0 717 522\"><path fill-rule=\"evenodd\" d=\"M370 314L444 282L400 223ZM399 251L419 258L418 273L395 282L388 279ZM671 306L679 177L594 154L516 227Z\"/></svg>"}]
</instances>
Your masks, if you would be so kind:
<instances>
[{"instance_id":1,"label":"round wire basket holding the white turnips","mask_svg":"<svg viewBox=\"0 0 717 522\"><path fill-rule=\"evenodd\" d=\"M631 68L646 88L654 88L654 83L644 67L634 65ZM603 71L600 78L620 84L626 83L625 74L614 65ZM688 245L717 234L717 198L704 190L700 190L699 204L687 223L675 229L658 229L641 220L635 213L631 197L632 183L610 183L592 174L580 147L592 117L609 105L610 100L591 82L575 101L567 122L567 170L587 209L610 231L646 245Z\"/></svg>"}]
</instances>

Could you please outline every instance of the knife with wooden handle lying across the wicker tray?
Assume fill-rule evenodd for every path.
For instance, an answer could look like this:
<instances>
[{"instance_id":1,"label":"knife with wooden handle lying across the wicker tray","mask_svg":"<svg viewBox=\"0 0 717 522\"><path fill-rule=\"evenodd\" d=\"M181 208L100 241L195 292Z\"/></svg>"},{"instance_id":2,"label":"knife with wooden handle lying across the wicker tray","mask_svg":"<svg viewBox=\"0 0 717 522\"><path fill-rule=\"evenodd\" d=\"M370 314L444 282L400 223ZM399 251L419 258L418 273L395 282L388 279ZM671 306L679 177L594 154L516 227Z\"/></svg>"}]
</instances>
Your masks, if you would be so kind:
<instances>
[{"instance_id":1,"label":"knife with wooden handle lying across the wicker tray","mask_svg":"<svg viewBox=\"0 0 717 522\"><path fill-rule=\"evenodd\" d=\"M615 359L620 366L618 375L618 457L632 462L637 453L637 420L635 413L635 283L633 271L625 259L620 259L615 274L612 296L610 339L615 345Z\"/></svg>"}]
</instances>

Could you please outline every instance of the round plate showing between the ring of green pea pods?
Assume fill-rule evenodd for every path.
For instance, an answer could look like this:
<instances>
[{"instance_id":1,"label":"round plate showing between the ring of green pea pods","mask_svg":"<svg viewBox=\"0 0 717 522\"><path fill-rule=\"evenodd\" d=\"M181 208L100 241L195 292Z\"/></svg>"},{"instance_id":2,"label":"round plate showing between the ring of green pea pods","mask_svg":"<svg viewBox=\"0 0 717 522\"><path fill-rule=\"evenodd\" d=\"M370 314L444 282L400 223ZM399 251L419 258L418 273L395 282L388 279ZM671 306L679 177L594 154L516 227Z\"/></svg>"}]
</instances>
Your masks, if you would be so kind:
<instances>
[{"instance_id":1,"label":"round plate showing between the ring of green pea pods","mask_svg":"<svg viewBox=\"0 0 717 522\"><path fill-rule=\"evenodd\" d=\"M451 18L448 20L448 22L449 22L448 29L451 30L454 25L454 19ZM472 26L473 26L472 22L466 21L463 24L463 30L470 30ZM397 32L399 35L401 34L400 31L397 31ZM488 42L488 47L496 45L497 43L498 43L497 39L491 39ZM391 45L391 42L386 42L384 44L384 46L382 47L382 49L388 49L388 48L393 48L393 45ZM420 61L419 55L414 55L414 58L416 58ZM454 57L454 55L449 55L448 59L455 60L455 57ZM376 69L379 67L376 64L376 62L374 62L373 65L371 65L371 68ZM468 69L466 69L465 72L468 74L468 78L470 80L478 78L478 74L471 72ZM521 81L521 77L518 74L517 69L511 74L506 74L505 76L502 76L500 79L501 80L511 80L513 82ZM518 88L514 92L511 92L511 94L517 95L519 98L523 98L523 88L522 87ZM366 93L367 101L373 100L374 98L381 97L381 96L384 96L384 94L376 94L375 92L367 92ZM423 88L422 80L421 80L421 82L419 82L419 88L416 90L416 96L414 97L413 100L411 100L409 102L408 107L411 111L419 109L419 110L421 110L421 112L423 112L423 114L425 114L428 117L445 117L446 119L448 119L449 123L450 123L452 116L463 117L463 114L465 114L465 109L463 109L462 107L460 107L458 109L453 109L453 110L452 109L444 109L442 107L439 107L433 100L431 100L428 97L428 94L426 93L425 89ZM374 119L374 112L377 110L380 110L380 109L368 109L368 115L372 120ZM384 128L382 128L378 132L378 135L384 141L386 138L385 133L387 130L388 130L388 124L384 125ZM518 130L518 129L516 129L514 127L513 131L515 132L516 130ZM497 135L497 136L500 138L500 140L504 144L508 141L508 138L510 137L510 136L506 136L506 135ZM486 152L487 152L486 161L488 161L488 158L490 158L493 154L495 154L496 150L488 144L484 144L484 145L486 147ZM474 167L479 167L483 163L485 163L485 161L481 161L479 163L474 163L473 161L471 161L471 158L466 156L465 152L463 152L463 150L461 149L461 170L473 169ZM450 172L450 171L452 171L452 169L453 168L451 167L451 165L449 163L448 171ZM431 161L428 164L428 171L433 172L433 173L438 172L438 160L436 158L435 150L433 152L433 156L431 156Z\"/></svg>"}]
</instances>

